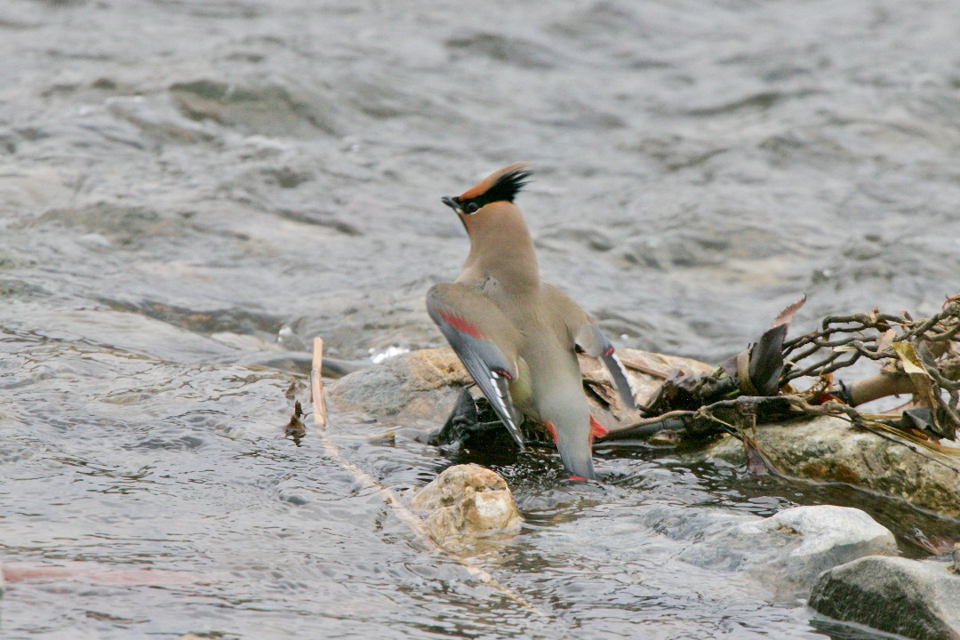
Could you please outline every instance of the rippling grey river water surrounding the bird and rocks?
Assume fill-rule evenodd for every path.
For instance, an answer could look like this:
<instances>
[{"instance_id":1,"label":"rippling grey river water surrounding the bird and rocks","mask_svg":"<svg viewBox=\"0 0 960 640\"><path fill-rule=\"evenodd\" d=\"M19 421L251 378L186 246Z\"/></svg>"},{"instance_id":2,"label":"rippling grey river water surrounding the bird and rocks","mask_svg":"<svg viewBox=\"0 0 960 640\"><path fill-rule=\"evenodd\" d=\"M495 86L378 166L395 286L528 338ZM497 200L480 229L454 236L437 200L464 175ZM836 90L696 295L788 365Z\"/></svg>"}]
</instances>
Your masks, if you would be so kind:
<instances>
[{"instance_id":1,"label":"rippling grey river water surrounding the bird and rocks","mask_svg":"<svg viewBox=\"0 0 960 640\"><path fill-rule=\"evenodd\" d=\"M284 438L287 356L442 344L422 297L468 245L440 197L516 160L541 272L618 345L717 362L804 293L795 330L928 315L960 283L957 25L896 0L0 3L0 560L156 577L13 583L0 635L879 637L685 565L636 513L855 505L910 556L956 523L656 449L602 485L507 461L525 528L478 561L531 615ZM452 462L342 446L398 489Z\"/></svg>"}]
</instances>

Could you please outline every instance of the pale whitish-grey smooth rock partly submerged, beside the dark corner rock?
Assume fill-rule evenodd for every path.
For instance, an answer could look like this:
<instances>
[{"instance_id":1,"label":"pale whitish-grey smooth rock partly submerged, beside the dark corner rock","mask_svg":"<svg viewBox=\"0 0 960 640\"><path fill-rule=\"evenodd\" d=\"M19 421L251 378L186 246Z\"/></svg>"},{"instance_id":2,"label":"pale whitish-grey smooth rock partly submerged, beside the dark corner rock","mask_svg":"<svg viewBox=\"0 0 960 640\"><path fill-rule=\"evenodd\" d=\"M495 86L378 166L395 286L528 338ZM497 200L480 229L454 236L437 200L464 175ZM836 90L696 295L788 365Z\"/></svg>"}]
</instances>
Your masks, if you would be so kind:
<instances>
[{"instance_id":1,"label":"pale whitish-grey smooth rock partly submerged, beside the dark corner rock","mask_svg":"<svg viewBox=\"0 0 960 640\"><path fill-rule=\"evenodd\" d=\"M745 573L769 588L774 598L805 593L821 572L838 564L897 553L893 533L858 509L796 507L768 518L686 511L660 508L644 519L669 537L695 540L681 553L684 562Z\"/></svg>"}]
</instances>

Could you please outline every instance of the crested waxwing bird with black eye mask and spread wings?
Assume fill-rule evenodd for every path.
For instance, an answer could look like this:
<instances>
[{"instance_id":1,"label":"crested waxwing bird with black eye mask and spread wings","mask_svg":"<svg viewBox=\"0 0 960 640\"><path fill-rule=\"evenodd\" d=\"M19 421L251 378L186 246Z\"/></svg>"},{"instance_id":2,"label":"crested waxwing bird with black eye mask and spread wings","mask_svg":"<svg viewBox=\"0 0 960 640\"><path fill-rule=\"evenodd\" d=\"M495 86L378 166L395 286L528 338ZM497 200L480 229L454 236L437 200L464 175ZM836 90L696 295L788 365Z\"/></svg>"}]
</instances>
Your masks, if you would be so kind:
<instances>
[{"instance_id":1,"label":"crested waxwing bird with black eye mask and spread wings","mask_svg":"<svg viewBox=\"0 0 960 640\"><path fill-rule=\"evenodd\" d=\"M603 360L631 409L636 401L611 342L576 302L540 279L514 204L529 178L529 165L517 162L442 199L467 229L470 250L457 279L427 293L427 311L521 450L519 425L539 421L571 477L595 478L592 441L606 430L590 416L576 347Z\"/></svg>"}]
</instances>

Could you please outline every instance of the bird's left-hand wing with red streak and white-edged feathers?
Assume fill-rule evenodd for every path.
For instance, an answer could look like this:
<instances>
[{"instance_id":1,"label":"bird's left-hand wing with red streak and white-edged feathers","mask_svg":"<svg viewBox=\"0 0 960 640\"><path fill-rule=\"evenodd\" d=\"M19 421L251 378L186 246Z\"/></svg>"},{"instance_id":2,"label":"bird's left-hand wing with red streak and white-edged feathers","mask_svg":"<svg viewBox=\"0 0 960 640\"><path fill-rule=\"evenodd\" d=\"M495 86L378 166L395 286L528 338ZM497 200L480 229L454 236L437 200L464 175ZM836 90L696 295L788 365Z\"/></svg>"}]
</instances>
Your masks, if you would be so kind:
<instances>
[{"instance_id":1,"label":"bird's left-hand wing with red streak and white-edged feathers","mask_svg":"<svg viewBox=\"0 0 960 640\"><path fill-rule=\"evenodd\" d=\"M466 283L433 286L426 309L522 450L523 435L510 397L520 332L490 299Z\"/></svg>"}]
</instances>

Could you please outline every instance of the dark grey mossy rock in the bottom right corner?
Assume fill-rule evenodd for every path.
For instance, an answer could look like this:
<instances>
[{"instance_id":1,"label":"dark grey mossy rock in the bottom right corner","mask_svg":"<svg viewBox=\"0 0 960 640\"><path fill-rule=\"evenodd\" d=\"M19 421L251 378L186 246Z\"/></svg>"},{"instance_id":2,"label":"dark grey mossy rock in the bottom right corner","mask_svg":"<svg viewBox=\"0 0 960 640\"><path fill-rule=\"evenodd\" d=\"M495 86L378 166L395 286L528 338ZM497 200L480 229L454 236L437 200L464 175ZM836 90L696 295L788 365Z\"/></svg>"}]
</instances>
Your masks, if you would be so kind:
<instances>
[{"instance_id":1,"label":"dark grey mossy rock in the bottom right corner","mask_svg":"<svg viewBox=\"0 0 960 640\"><path fill-rule=\"evenodd\" d=\"M960 640L960 576L943 563L861 557L820 576L819 613L918 640Z\"/></svg>"}]
</instances>

